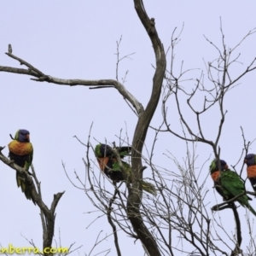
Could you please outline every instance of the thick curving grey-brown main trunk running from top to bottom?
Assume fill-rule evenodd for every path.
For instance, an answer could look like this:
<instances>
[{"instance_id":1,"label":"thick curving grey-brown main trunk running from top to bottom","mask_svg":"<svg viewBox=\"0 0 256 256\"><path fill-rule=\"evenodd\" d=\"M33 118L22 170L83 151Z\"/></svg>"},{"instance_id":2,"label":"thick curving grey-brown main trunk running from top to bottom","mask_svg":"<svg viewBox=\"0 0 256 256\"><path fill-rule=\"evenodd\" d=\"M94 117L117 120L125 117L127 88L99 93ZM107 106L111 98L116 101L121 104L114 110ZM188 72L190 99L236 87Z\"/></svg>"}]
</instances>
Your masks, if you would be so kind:
<instances>
[{"instance_id":1,"label":"thick curving grey-brown main trunk running from top to bottom","mask_svg":"<svg viewBox=\"0 0 256 256\"><path fill-rule=\"evenodd\" d=\"M134 0L134 4L137 15L142 21L146 32L148 32L148 37L153 44L156 68L154 72L152 94L148 101L148 106L139 115L137 126L134 131L131 150L131 166L135 178L133 180L132 189L129 193L127 201L127 212L133 229L136 230L138 238L143 242L143 245L146 247L149 255L157 256L160 255L159 248L154 240L154 237L143 223L143 218L140 213L140 205L142 202L141 181L143 178L142 151L148 132L148 126L160 99L162 83L166 73L166 55L163 44L161 43L154 26L154 18L148 18L146 10L143 6L143 1ZM137 191L140 192L138 193Z\"/></svg>"}]
</instances>

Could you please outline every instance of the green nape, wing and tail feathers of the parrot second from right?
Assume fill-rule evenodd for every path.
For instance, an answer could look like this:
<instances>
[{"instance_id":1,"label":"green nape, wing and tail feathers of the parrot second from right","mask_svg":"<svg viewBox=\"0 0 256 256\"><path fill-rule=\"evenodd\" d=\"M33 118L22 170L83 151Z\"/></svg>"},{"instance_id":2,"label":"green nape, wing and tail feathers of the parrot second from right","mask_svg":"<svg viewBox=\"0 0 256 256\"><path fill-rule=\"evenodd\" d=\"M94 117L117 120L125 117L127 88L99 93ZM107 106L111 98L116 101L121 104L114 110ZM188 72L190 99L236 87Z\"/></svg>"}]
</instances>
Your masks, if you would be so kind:
<instances>
[{"instance_id":1,"label":"green nape, wing and tail feathers of the parrot second from right","mask_svg":"<svg viewBox=\"0 0 256 256\"><path fill-rule=\"evenodd\" d=\"M216 165L216 160L212 160L212 169L213 166ZM210 166L210 170L211 170ZM221 193L224 197L225 201L228 201L235 197L236 195L241 195L242 193L245 193L245 187L244 182L241 180L241 177L236 172L231 171L230 169L224 170L224 172L221 172L218 177L218 184L221 186L220 189L222 189ZM247 207L248 210L250 210L253 215L256 216L256 212L253 210L253 207L249 204L248 200L252 200L250 197L248 197L246 194L241 195L236 199L242 207Z\"/></svg>"}]
</instances>

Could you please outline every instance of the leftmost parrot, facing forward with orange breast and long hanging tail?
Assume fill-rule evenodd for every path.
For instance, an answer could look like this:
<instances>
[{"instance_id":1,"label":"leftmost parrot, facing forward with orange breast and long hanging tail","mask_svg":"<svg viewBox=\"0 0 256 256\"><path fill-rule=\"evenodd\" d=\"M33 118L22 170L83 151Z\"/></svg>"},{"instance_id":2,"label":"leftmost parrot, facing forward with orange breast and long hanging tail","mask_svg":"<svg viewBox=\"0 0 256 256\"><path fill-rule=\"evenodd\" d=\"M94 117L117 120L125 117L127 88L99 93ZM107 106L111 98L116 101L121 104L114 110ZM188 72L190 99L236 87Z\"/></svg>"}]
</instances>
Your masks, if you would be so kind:
<instances>
[{"instance_id":1,"label":"leftmost parrot, facing forward with orange breast and long hanging tail","mask_svg":"<svg viewBox=\"0 0 256 256\"><path fill-rule=\"evenodd\" d=\"M29 140L29 131L23 129L18 130L15 134L15 139L9 143L8 147L10 160L14 160L16 165L28 172L33 158L33 147ZM25 177L24 174L16 172L17 185L21 188L22 192L25 193L26 199L32 200L36 205L29 188L30 185Z\"/></svg>"}]
</instances>

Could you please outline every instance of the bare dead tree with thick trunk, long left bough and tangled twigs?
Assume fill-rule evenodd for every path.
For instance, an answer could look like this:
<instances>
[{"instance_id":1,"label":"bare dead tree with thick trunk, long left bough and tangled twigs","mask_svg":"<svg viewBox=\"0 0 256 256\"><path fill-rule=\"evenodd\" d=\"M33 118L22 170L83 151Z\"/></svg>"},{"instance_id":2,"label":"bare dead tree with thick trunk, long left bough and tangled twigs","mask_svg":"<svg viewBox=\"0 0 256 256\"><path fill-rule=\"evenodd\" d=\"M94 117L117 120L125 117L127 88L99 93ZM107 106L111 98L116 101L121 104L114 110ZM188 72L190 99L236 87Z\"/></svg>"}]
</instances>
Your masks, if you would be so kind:
<instances>
[{"instance_id":1,"label":"bare dead tree with thick trunk, long left bough and tangled twigs","mask_svg":"<svg viewBox=\"0 0 256 256\"><path fill-rule=\"evenodd\" d=\"M175 74L172 69L175 61L174 48L179 36L172 37L171 70L167 71L166 52L158 36L154 18L150 19L148 17L142 0L134 0L134 4L137 15L145 31L148 33L150 44L153 45L155 56L153 87L151 97L145 109L125 89L124 84L121 84L118 79L86 80L54 78L38 70L37 67L33 67L32 64L22 60L20 57L13 55L12 51L6 54L10 58L19 61L26 68L0 66L0 71L25 74L31 76L32 80L37 82L69 86L84 85L101 89L113 87L134 108L134 112L137 113L138 118L131 143L131 169L134 178L132 183L125 183L125 189L123 189L124 186L122 186L122 183L113 183L113 193L109 191L107 188L108 184L104 183L106 181L105 177L98 177L91 165L90 152L92 153L92 150L90 150L90 139L88 143L84 144L87 148L87 159L84 160L84 165L88 173L88 184L80 182L92 204L107 216L108 223L113 230L114 244L118 255L121 255L117 235L118 229L125 232L128 236L140 240L145 252L152 256L175 255L180 252L188 253L189 255L210 255L211 253L215 255L219 255L220 253L229 255L230 253L227 253L228 251L232 251L233 255L240 253L241 229L239 216L236 214L236 207L232 208L236 218L237 228L236 237L234 238L230 234L225 233L224 228L219 225L218 220L216 218L212 219L210 213L207 211L208 204L205 201L208 193L207 188L205 188L206 177L202 177L201 172L195 172L196 156L193 147L195 147L196 143L206 143L212 148L215 158L219 159L220 147L218 142L226 114L223 107L224 96L236 85L239 79L256 68L254 67L254 61L256 59L253 58L245 70L238 74L236 78L231 78L229 72L230 67L237 61L238 57L236 56L234 59L231 59L231 55L234 49L255 31L249 32L233 49L228 49L226 44L224 44L224 33L222 33L223 49L218 49L215 44L207 39L218 52L217 61L206 63L207 78L212 82L212 87L208 88L204 84L204 75L201 73L199 79L185 79L195 83L193 84L193 88L188 91L187 88L183 88L181 80L189 71L183 71L181 68L181 72ZM217 73L217 76L214 76L215 73ZM177 168L175 171L154 165L152 160L153 151L149 154L148 158L142 154L151 119L160 102L162 89L164 89L162 102L163 124L158 129L153 127L156 132L154 143L160 132L166 131L179 137L186 143L187 153L184 166L178 163L171 153L166 154L168 158L176 163ZM207 95L204 96L201 110L196 110L191 103L197 92ZM182 101L179 98L180 93L188 96L187 104L195 115L196 129L191 127L189 121L183 117ZM169 122L167 119L166 102L172 98L176 102L177 113L179 115L178 121L181 122L183 128L181 130L182 133L173 131L171 128L173 121ZM211 140L204 135L204 130L201 127L201 114L207 113L208 109L216 105L219 106L220 119L217 137ZM164 125L166 128L164 128ZM189 145L192 145L192 150L189 148ZM152 170L152 179L159 192L155 198L142 192L143 162L148 164ZM79 176L77 178L79 179ZM214 224L230 239L229 242L225 241L218 232L214 232L216 229ZM178 238L178 242L182 246L178 247L173 243L174 237ZM183 247L183 243L186 247ZM187 245L190 247L187 247Z\"/></svg>"}]
</instances>

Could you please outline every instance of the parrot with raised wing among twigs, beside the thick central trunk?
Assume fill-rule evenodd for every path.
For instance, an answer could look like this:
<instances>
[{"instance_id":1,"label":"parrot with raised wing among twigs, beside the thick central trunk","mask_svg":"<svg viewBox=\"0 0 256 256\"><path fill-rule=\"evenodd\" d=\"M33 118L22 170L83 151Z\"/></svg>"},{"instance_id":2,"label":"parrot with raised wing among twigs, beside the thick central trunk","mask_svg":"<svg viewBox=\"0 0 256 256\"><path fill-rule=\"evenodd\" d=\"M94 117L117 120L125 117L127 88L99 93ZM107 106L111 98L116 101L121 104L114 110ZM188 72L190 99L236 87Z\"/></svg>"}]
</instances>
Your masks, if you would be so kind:
<instances>
[{"instance_id":1,"label":"parrot with raised wing among twigs, beside the thick central trunk","mask_svg":"<svg viewBox=\"0 0 256 256\"><path fill-rule=\"evenodd\" d=\"M128 147L119 147L116 148L116 150L118 151L121 159L123 159L126 155L129 155L131 152L131 148ZM101 171L104 172L110 179L112 179L113 182L118 183L120 181L126 180L129 183L132 182L131 166L124 160L121 160L124 170L124 172L122 172L118 160L114 156L113 150L110 146L102 143L96 145L95 154ZM143 190L156 195L156 190L154 188L154 184L152 183L143 181Z\"/></svg>"}]
</instances>

